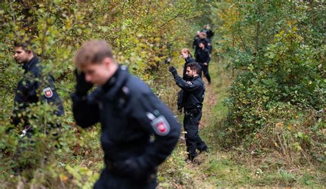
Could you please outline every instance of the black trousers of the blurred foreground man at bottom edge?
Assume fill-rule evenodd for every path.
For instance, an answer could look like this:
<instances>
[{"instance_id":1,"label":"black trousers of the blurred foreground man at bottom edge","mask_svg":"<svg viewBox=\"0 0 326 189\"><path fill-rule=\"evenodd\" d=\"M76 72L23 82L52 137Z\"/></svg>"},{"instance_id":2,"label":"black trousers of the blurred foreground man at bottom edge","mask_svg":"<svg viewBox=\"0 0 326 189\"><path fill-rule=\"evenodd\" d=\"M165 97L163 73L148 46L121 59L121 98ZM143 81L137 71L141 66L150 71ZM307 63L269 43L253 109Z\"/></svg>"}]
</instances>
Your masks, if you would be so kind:
<instances>
[{"instance_id":1,"label":"black trousers of the blurred foreground man at bottom edge","mask_svg":"<svg viewBox=\"0 0 326 189\"><path fill-rule=\"evenodd\" d=\"M114 170L105 168L102 170L100 179L94 184L94 189L102 188L148 188L156 187L156 177L149 177L146 180L135 180L133 178L122 177Z\"/></svg>"}]
</instances>

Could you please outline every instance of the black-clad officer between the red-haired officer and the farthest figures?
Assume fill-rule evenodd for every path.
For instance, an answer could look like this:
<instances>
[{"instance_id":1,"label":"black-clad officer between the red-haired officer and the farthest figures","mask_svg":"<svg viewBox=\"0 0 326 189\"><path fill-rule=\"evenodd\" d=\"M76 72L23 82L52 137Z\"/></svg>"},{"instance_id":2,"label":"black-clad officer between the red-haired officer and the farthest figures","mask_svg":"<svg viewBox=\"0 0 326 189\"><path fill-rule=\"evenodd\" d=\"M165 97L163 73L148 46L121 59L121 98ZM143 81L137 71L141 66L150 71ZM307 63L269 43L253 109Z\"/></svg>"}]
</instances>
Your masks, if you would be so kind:
<instances>
[{"instance_id":1,"label":"black-clad officer between the red-haired officer and the farthest figures","mask_svg":"<svg viewBox=\"0 0 326 189\"><path fill-rule=\"evenodd\" d=\"M196 62L199 63L199 65L202 67L202 70L204 72L204 76L208 80L208 84L211 83L210 81L210 75L208 72L208 65L210 61L210 54L208 49L205 48L204 43L199 43L199 49L196 54Z\"/></svg>"}]
</instances>

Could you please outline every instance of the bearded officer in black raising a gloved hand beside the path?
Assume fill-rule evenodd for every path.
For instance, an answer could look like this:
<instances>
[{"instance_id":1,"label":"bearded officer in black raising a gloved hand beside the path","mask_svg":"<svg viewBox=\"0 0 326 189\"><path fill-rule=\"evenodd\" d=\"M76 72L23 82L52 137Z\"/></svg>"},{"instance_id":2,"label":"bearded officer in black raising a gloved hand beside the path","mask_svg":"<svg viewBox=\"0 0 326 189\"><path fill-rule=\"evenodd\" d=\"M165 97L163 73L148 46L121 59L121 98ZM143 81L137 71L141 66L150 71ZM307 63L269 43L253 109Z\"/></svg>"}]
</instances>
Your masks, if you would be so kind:
<instances>
[{"instance_id":1,"label":"bearded officer in black raising a gloved hand beside the path","mask_svg":"<svg viewBox=\"0 0 326 189\"><path fill-rule=\"evenodd\" d=\"M188 159L193 161L197 157L196 149L200 152L208 151L205 142L198 135L199 121L202 118L202 107L204 102L205 85L198 76L199 66L197 63L187 65L186 74L191 80L183 80L177 74L174 67L169 71L173 74L175 82L184 91L182 106L184 107L184 130L186 131L186 146Z\"/></svg>"}]
</instances>

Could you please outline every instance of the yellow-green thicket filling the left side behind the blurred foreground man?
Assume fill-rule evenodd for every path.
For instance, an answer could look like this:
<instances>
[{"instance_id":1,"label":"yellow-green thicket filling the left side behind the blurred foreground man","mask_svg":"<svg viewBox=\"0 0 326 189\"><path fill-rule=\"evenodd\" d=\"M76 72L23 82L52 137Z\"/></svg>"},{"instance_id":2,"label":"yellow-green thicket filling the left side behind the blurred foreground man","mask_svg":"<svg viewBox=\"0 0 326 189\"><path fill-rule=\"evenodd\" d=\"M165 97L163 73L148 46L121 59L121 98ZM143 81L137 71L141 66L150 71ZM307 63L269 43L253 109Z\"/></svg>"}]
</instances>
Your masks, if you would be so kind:
<instances>
[{"instance_id":1,"label":"yellow-green thicket filling the left side behind the blurred foreground man","mask_svg":"<svg viewBox=\"0 0 326 189\"><path fill-rule=\"evenodd\" d=\"M157 95L168 100L164 87L166 59L180 62L180 49L191 38L189 19L201 14L204 1L1 1L0 19L0 184L90 188L102 168L99 129L79 130L70 111L74 91L72 56L83 41L102 38L113 47L116 59L149 83ZM27 109L35 130L34 142L19 144L23 128L8 131L14 90L22 69L12 58L13 43L32 38L45 72L51 72L65 102L62 128L51 135L49 122L54 109L34 104ZM161 71L164 69L164 74ZM160 79L160 85L155 80ZM162 91L162 90L166 91ZM170 91L173 89L169 89ZM167 96L167 97L166 97ZM175 99L171 99L174 102ZM13 132L14 131L14 132ZM52 131L51 131L52 132ZM58 138L58 140L57 140ZM60 147L58 147L60 146ZM27 150L19 151L24 148ZM19 157L14 157L19 151ZM23 177L13 177L12 168L28 165Z\"/></svg>"}]
</instances>

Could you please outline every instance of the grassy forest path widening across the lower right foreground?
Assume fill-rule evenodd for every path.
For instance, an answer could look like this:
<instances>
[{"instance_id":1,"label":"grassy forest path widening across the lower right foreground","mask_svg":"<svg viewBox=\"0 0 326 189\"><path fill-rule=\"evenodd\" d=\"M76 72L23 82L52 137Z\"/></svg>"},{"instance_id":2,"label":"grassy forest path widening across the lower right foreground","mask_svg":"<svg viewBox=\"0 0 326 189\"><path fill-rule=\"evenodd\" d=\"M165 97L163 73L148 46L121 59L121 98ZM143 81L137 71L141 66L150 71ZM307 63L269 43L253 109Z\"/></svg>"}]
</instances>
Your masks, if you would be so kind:
<instances>
[{"instance_id":1,"label":"grassy forest path widening across the lower right foreground","mask_svg":"<svg viewBox=\"0 0 326 189\"><path fill-rule=\"evenodd\" d=\"M292 176L275 168L266 169L262 175L262 164L258 158L243 155L237 146L229 146L228 150L221 148L224 146L223 136L228 132L223 129L228 113L224 100L228 97L228 89L232 82L232 71L226 69L226 65L224 60L213 57L209 67L212 84L208 85L204 78L206 93L199 135L210 148L210 153L199 153L195 163L186 162L182 165L181 175L185 179L182 179L182 182L176 181L173 186L175 188L274 187L280 184L301 186L301 178L297 181L295 179L305 175ZM184 145L184 138L180 143ZM181 150L185 151L183 145ZM305 171L307 168L302 169Z\"/></svg>"}]
</instances>

